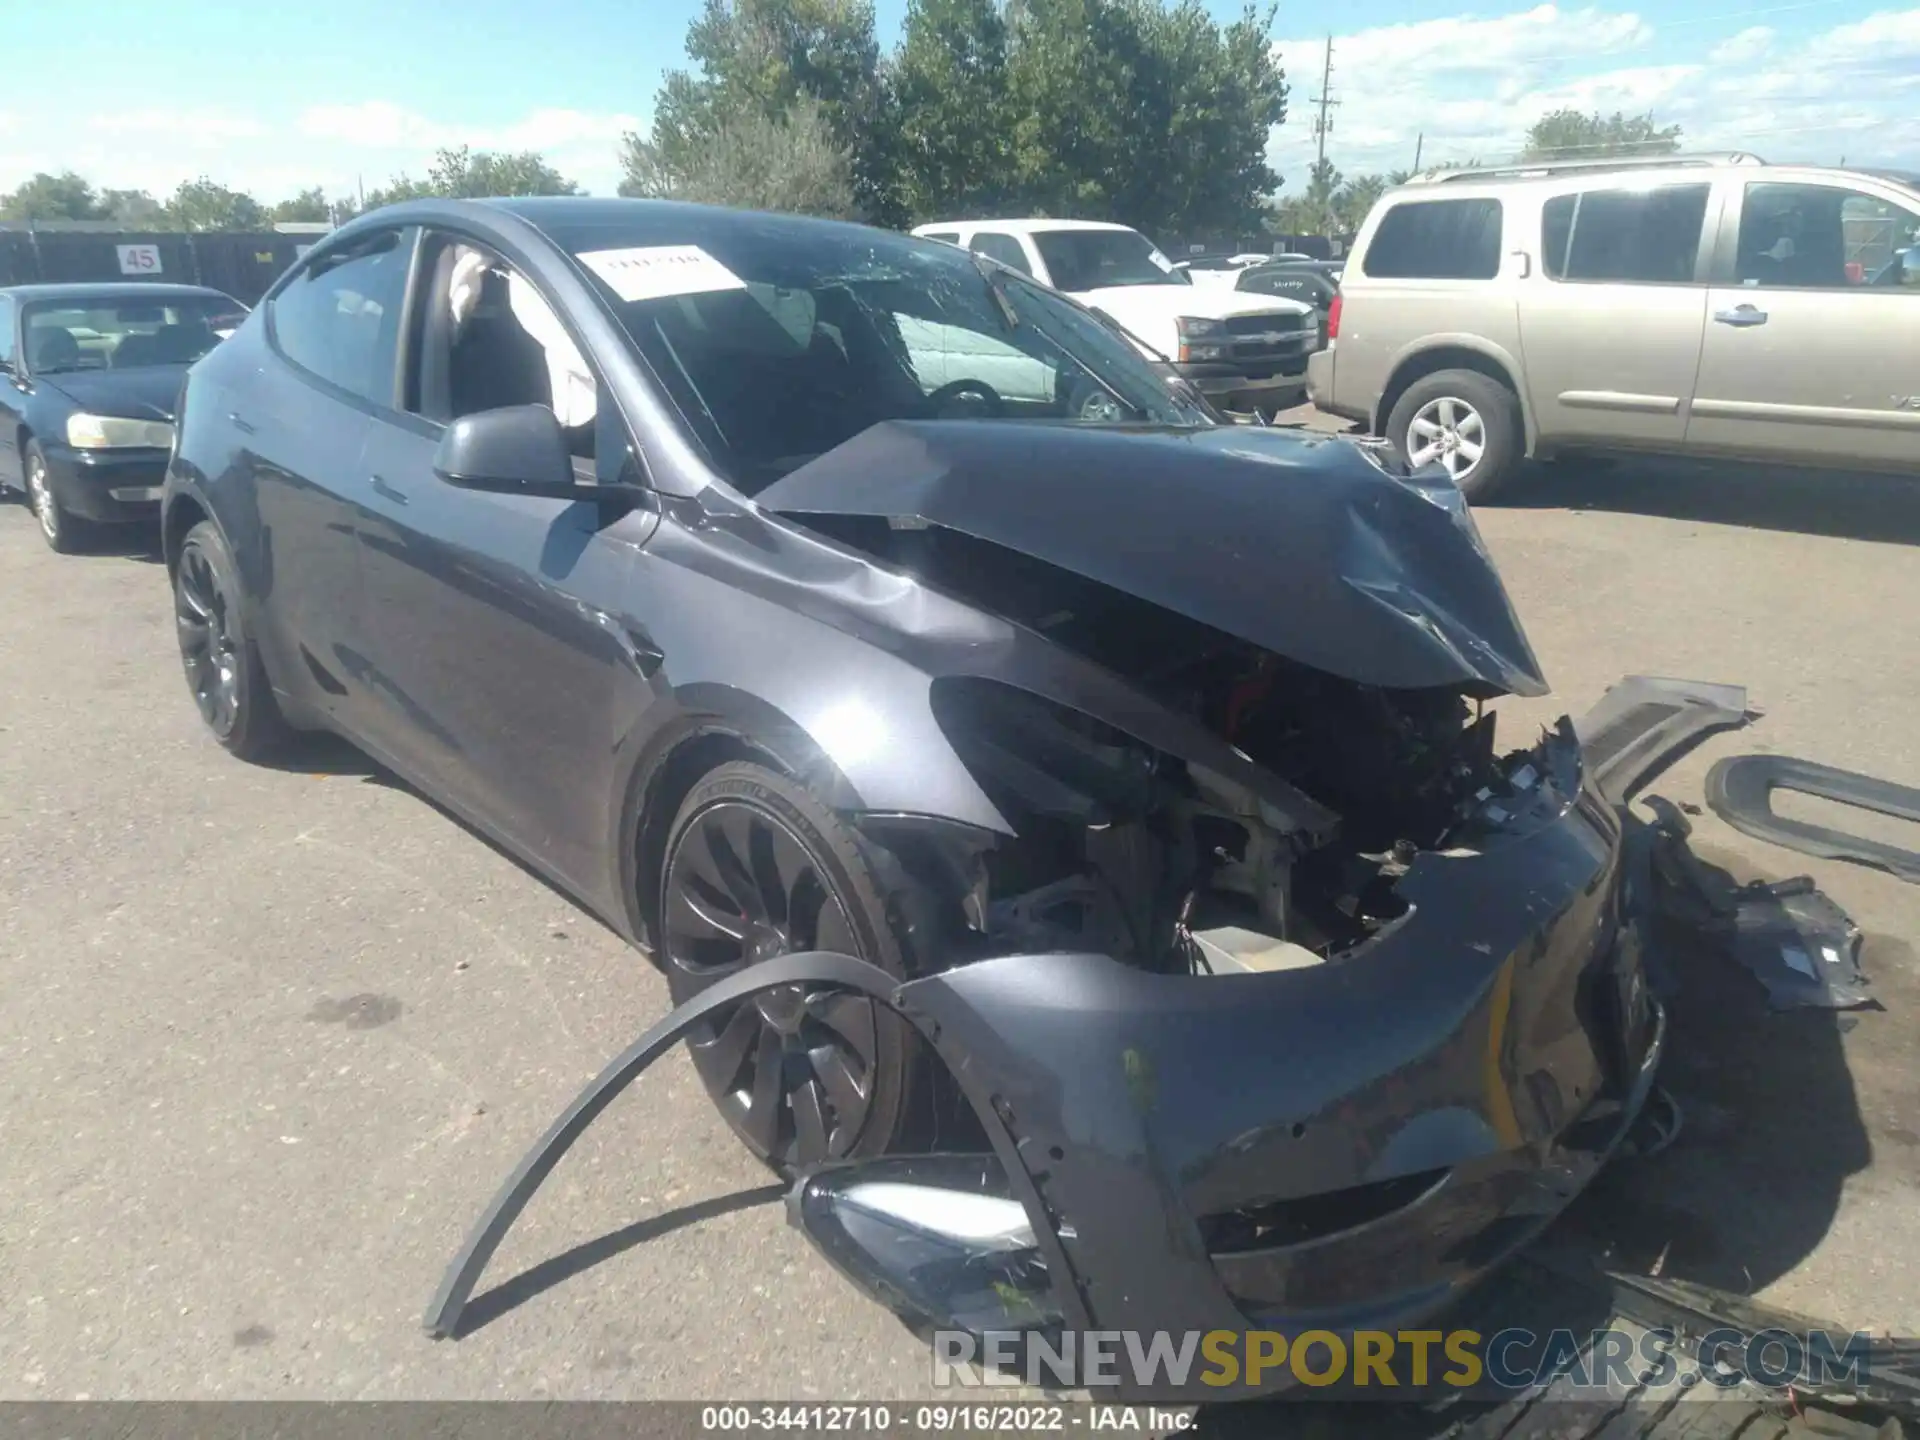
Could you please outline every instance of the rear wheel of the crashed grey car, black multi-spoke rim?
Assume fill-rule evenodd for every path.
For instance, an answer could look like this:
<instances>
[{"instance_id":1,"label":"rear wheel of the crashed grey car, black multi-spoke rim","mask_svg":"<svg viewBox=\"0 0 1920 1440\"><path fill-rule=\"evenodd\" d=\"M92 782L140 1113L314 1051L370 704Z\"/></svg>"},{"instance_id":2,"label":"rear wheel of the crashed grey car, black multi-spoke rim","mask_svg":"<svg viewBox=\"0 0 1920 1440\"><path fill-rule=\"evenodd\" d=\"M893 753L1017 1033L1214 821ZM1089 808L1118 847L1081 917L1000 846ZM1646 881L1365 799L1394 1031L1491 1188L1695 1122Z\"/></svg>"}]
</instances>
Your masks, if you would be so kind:
<instances>
[{"instance_id":1,"label":"rear wheel of the crashed grey car, black multi-spoke rim","mask_svg":"<svg viewBox=\"0 0 1920 1440\"><path fill-rule=\"evenodd\" d=\"M173 566L173 620L186 687L200 718L242 760L280 749L292 728L280 714L259 647L246 628L240 566L213 520L186 532Z\"/></svg>"}]
</instances>

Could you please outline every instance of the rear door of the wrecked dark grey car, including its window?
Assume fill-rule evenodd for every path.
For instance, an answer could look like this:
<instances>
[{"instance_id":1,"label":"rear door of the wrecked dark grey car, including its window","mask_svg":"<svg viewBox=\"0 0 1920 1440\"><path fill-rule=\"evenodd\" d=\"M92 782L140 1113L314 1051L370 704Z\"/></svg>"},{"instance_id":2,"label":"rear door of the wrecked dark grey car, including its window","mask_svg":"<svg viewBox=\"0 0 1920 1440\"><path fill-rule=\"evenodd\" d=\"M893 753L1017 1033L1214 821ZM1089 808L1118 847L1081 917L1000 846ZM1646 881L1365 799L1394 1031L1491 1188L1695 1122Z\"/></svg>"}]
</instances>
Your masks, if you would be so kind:
<instances>
[{"instance_id":1,"label":"rear door of the wrecked dark grey car, including its window","mask_svg":"<svg viewBox=\"0 0 1920 1440\"><path fill-rule=\"evenodd\" d=\"M369 705L355 530L369 499L372 415L394 407L394 363L417 232L382 228L313 253L267 301L269 353L238 376L217 420L248 468L255 568L275 674L353 730Z\"/></svg>"}]
</instances>

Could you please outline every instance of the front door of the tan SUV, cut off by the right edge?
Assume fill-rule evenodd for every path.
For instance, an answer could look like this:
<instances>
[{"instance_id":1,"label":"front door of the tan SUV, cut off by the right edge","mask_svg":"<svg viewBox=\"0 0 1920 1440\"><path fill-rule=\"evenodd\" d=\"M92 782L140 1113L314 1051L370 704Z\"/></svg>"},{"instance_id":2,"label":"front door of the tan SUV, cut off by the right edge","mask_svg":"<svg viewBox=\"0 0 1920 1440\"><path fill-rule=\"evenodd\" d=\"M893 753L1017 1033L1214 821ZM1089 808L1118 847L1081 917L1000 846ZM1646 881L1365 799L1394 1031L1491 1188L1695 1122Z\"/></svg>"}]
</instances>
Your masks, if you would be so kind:
<instances>
[{"instance_id":1,"label":"front door of the tan SUV, cut off by the right edge","mask_svg":"<svg viewBox=\"0 0 1920 1440\"><path fill-rule=\"evenodd\" d=\"M1747 180L1707 294L1688 449L1920 465L1920 202L1860 177ZM1903 263L1895 263L1903 261Z\"/></svg>"}]
</instances>

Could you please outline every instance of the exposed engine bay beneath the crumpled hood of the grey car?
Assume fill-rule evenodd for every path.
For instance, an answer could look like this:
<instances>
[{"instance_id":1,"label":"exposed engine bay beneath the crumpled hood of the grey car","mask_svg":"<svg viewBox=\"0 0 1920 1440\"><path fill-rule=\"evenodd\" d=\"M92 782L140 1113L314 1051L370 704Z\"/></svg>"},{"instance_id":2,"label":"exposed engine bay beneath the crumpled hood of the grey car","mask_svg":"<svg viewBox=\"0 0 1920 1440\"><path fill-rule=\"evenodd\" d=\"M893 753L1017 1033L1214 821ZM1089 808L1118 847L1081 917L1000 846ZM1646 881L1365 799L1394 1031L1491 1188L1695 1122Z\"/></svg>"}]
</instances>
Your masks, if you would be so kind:
<instances>
[{"instance_id":1,"label":"exposed engine bay beneath the crumpled hood of the grey car","mask_svg":"<svg viewBox=\"0 0 1920 1440\"><path fill-rule=\"evenodd\" d=\"M1171 973L1334 960L1400 920L1394 883L1538 778L1494 755L1471 687L1325 674L1046 561L941 526L808 522L1123 676L1340 816L1288 833L1244 787L995 680L933 707L1018 839L973 856L983 954L1085 950Z\"/></svg>"}]
</instances>

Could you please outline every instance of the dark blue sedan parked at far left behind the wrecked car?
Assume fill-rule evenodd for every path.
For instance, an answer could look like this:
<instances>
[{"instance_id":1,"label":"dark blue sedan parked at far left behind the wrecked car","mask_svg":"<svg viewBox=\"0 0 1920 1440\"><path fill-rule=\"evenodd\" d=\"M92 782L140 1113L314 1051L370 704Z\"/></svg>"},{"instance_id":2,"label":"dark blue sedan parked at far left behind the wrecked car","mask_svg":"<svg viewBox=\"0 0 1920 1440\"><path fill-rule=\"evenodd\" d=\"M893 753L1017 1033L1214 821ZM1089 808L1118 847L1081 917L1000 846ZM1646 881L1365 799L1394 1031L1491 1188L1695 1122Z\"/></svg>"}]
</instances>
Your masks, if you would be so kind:
<instances>
[{"instance_id":1,"label":"dark blue sedan parked at far left behind the wrecked car","mask_svg":"<svg viewBox=\"0 0 1920 1440\"><path fill-rule=\"evenodd\" d=\"M48 545L159 518L186 367L244 315L186 284L0 290L0 492L27 495Z\"/></svg>"}]
</instances>

